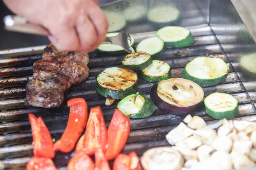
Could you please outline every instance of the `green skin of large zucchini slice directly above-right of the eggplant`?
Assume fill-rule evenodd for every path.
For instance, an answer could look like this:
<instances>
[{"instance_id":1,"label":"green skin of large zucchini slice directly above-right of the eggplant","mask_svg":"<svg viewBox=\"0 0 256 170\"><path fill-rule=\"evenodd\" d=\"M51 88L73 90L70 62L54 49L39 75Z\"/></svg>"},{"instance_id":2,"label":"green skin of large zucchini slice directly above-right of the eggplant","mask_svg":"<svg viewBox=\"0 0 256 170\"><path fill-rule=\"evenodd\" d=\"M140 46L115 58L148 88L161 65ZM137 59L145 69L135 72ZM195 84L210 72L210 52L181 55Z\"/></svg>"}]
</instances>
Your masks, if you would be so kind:
<instances>
[{"instance_id":1,"label":"green skin of large zucchini slice directly above-right of the eggplant","mask_svg":"<svg viewBox=\"0 0 256 170\"><path fill-rule=\"evenodd\" d=\"M186 67L185 67L180 78L191 80L192 82L197 83L201 87L208 87L208 86L217 85L217 84L223 82L227 78L227 75L228 75L228 73L221 77L215 78L215 79L198 79L196 77L190 76L189 73L186 71Z\"/></svg>"}]
</instances>

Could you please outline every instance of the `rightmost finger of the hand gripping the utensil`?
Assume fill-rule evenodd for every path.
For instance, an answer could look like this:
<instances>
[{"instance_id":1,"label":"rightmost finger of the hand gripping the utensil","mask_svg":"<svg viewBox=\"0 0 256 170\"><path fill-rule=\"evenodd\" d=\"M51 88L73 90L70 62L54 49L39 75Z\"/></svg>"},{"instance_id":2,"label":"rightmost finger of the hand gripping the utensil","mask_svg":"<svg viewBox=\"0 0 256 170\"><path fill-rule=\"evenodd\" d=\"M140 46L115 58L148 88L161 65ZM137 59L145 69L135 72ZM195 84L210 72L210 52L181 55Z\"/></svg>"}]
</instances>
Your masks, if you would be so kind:
<instances>
[{"instance_id":1,"label":"rightmost finger of the hand gripping the utensil","mask_svg":"<svg viewBox=\"0 0 256 170\"><path fill-rule=\"evenodd\" d=\"M108 20L99 6L96 6L96 8L90 8L89 10L90 20L98 34L98 39L93 46L93 48L96 49L106 38L106 34L108 32Z\"/></svg>"}]
</instances>

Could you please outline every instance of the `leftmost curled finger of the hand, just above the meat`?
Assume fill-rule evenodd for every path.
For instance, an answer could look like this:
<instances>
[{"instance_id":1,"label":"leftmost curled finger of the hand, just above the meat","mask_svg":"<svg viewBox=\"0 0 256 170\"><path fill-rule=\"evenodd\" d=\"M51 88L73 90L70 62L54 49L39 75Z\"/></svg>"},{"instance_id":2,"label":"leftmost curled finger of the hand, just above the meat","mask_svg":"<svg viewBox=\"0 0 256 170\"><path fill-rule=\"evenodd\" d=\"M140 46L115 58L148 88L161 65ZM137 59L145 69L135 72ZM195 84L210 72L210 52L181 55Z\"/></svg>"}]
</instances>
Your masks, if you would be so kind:
<instances>
[{"instance_id":1,"label":"leftmost curled finger of the hand, just above the meat","mask_svg":"<svg viewBox=\"0 0 256 170\"><path fill-rule=\"evenodd\" d=\"M62 51L76 51L79 49L79 37L75 28L65 28L60 31L51 31L49 40L56 48ZM54 37L54 38L53 38Z\"/></svg>"}]
</instances>

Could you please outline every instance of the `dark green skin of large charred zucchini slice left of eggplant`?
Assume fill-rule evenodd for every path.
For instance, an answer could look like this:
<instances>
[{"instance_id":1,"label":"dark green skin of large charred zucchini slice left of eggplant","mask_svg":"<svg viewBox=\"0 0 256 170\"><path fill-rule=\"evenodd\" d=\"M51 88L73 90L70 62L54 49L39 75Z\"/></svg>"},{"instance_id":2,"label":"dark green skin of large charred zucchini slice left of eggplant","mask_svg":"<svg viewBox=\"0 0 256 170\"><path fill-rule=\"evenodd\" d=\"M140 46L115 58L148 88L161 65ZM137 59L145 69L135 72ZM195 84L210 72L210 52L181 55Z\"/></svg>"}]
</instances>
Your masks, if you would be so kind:
<instances>
[{"instance_id":1,"label":"dark green skin of large charred zucchini slice left of eggplant","mask_svg":"<svg viewBox=\"0 0 256 170\"><path fill-rule=\"evenodd\" d=\"M134 94L137 89L138 89L138 81L136 83L134 83L134 85L132 85L131 87L123 90L123 91L115 91L115 90L109 90L107 88L103 88L101 85L99 85L98 81L96 81L96 91L104 96L104 97L108 97L111 96L113 99L123 99L124 97L130 95L130 94Z\"/></svg>"}]
</instances>

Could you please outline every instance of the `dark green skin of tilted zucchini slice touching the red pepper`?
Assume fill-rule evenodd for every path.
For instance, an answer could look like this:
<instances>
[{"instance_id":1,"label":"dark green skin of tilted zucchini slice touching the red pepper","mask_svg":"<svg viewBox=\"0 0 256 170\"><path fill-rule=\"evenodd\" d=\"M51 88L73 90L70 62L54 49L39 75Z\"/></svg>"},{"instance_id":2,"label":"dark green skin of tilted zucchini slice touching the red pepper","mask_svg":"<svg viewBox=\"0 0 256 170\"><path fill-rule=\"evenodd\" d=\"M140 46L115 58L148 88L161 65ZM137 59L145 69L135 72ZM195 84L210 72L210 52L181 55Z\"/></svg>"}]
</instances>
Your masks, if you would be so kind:
<instances>
[{"instance_id":1,"label":"dark green skin of tilted zucchini slice touching the red pepper","mask_svg":"<svg viewBox=\"0 0 256 170\"><path fill-rule=\"evenodd\" d=\"M134 115L125 115L125 116L129 117L130 119L146 118L148 116L151 116L154 113L154 111L156 110L156 106L150 99L148 99L146 96L144 96L142 94L139 94L139 95L141 95L144 98L145 103L138 113L135 113ZM117 104L117 109L119 109L118 105L119 105L119 103Z\"/></svg>"}]
</instances>

